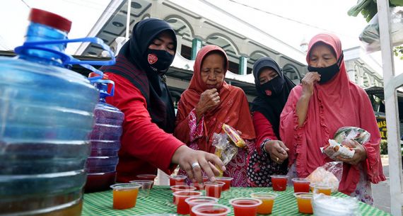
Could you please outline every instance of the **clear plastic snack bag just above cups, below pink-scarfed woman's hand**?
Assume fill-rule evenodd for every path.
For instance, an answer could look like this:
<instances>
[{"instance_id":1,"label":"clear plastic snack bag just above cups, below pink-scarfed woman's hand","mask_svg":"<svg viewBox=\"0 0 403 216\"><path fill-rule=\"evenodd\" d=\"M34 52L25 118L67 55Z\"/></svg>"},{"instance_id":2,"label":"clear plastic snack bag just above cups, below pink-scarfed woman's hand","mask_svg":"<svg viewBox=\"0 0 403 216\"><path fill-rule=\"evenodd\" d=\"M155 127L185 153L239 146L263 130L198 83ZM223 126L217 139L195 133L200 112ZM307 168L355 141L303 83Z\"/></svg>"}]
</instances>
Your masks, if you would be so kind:
<instances>
[{"instance_id":1,"label":"clear plastic snack bag just above cups, below pink-scarfed woman's hand","mask_svg":"<svg viewBox=\"0 0 403 216\"><path fill-rule=\"evenodd\" d=\"M332 161L317 167L307 179L310 183L325 183L332 187L332 192L337 191L341 176L343 175L343 163Z\"/></svg>"}]
</instances>

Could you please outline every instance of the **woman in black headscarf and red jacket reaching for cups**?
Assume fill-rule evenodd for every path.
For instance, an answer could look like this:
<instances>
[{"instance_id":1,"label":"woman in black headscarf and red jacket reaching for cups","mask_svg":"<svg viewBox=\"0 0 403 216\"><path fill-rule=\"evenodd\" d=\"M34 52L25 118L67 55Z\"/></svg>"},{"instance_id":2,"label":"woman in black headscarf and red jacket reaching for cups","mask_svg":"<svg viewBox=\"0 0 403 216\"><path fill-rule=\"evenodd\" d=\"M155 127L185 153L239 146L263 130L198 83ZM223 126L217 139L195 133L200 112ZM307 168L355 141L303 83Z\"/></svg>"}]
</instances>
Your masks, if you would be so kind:
<instances>
[{"instance_id":1,"label":"woman in black headscarf and red jacket reaching for cups","mask_svg":"<svg viewBox=\"0 0 403 216\"><path fill-rule=\"evenodd\" d=\"M223 166L214 154L189 149L171 135L175 113L165 73L176 46L170 25L148 18L134 25L116 64L101 68L115 81L115 96L107 98L107 103L124 113L118 182L134 180L138 174L156 174L157 168L170 174L174 164L180 164L195 181L202 182L201 169L214 181L219 171L209 162Z\"/></svg>"}]
</instances>

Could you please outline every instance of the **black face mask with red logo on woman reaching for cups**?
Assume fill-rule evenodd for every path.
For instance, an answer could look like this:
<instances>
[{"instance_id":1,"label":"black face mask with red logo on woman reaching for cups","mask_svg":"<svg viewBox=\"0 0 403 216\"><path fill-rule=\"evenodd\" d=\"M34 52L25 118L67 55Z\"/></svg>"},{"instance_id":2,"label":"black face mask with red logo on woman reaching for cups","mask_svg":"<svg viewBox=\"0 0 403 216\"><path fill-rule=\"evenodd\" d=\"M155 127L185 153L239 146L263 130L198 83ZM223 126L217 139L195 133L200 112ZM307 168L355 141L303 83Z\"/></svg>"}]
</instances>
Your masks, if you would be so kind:
<instances>
[{"instance_id":1,"label":"black face mask with red logo on woman reaching for cups","mask_svg":"<svg viewBox=\"0 0 403 216\"><path fill-rule=\"evenodd\" d=\"M147 50L147 62L153 71L158 74L165 74L173 62L173 55L165 50Z\"/></svg>"}]
</instances>

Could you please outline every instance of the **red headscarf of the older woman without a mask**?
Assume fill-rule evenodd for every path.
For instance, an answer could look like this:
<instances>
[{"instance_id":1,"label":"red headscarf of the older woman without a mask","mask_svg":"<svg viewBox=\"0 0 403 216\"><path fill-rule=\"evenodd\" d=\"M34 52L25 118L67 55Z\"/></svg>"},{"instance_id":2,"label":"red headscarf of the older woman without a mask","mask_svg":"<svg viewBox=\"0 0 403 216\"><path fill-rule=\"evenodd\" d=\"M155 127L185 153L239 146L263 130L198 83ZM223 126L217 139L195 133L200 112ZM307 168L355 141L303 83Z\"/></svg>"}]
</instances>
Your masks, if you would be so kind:
<instances>
[{"instance_id":1,"label":"red headscarf of the older woman without a mask","mask_svg":"<svg viewBox=\"0 0 403 216\"><path fill-rule=\"evenodd\" d=\"M207 90L206 84L202 81L201 69L204 58L211 52L220 52L225 57L224 70L225 72L228 70L228 57L221 47L207 45L197 53L196 62L194 63L194 73L190 80L189 88L182 93L178 105L177 125L187 118L190 111L199 103L200 95ZM223 81L223 84L218 88L218 93L221 103L214 110L204 114L204 136L197 140L199 149L205 152L214 153L214 147L211 146L211 137L214 133L221 133L223 123L242 132L241 137L244 139L255 139L255 130L247 98L242 89L231 86L226 81ZM175 128L175 134L181 134L185 131L187 131L185 128Z\"/></svg>"}]
</instances>

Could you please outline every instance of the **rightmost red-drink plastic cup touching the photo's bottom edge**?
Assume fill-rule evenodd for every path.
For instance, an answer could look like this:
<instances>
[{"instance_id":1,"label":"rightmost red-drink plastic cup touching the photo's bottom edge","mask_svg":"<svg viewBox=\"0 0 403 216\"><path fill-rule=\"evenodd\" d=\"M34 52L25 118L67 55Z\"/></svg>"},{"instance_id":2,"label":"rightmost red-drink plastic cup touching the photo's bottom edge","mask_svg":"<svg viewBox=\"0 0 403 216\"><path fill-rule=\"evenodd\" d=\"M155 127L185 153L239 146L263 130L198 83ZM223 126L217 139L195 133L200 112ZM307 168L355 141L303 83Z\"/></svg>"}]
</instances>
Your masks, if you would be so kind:
<instances>
[{"instance_id":1,"label":"rightmost red-drink plastic cup touching the photo's bottom edge","mask_svg":"<svg viewBox=\"0 0 403 216\"><path fill-rule=\"evenodd\" d=\"M234 198L229 203L234 208L235 216L256 216L257 207L263 202L256 198Z\"/></svg>"}]
</instances>

